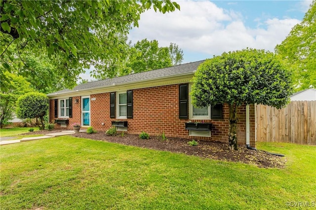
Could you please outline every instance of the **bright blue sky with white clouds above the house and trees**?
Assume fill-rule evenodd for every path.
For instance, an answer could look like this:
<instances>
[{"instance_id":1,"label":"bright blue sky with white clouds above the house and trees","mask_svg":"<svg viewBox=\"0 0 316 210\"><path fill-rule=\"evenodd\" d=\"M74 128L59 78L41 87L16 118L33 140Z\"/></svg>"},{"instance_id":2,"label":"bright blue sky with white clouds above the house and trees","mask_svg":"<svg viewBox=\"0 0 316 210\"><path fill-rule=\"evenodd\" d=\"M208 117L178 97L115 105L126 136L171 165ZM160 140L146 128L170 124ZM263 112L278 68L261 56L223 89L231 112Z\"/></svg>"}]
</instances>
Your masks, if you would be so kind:
<instances>
[{"instance_id":1,"label":"bright blue sky with white clouds above the house and trees","mask_svg":"<svg viewBox=\"0 0 316 210\"><path fill-rule=\"evenodd\" d=\"M300 23L312 0L173 0L180 11L162 14L154 9L141 15L139 27L128 38L147 38L160 47L177 44L182 64L212 58L246 47L274 52ZM89 70L80 76L89 77Z\"/></svg>"}]
</instances>

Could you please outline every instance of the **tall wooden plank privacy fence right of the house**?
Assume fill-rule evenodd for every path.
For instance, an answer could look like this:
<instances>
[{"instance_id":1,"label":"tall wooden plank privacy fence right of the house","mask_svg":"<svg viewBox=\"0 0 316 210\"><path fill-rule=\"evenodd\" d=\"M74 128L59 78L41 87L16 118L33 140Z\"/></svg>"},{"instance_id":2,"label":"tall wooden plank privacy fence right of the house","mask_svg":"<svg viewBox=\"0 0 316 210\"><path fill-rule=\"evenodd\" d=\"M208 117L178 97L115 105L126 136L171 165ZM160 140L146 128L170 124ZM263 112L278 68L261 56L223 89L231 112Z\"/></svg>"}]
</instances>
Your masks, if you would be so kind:
<instances>
[{"instance_id":1,"label":"tall wooden plank privacy fence right of the house","mask_svg":"<svg viewBox=\"0 0 316 210\"><path fill-rule=\"evenodd\" d=\"M257 141L316 145L316 101L292 101L285 108L257 105Z\"/></svg>"}]
</instances>

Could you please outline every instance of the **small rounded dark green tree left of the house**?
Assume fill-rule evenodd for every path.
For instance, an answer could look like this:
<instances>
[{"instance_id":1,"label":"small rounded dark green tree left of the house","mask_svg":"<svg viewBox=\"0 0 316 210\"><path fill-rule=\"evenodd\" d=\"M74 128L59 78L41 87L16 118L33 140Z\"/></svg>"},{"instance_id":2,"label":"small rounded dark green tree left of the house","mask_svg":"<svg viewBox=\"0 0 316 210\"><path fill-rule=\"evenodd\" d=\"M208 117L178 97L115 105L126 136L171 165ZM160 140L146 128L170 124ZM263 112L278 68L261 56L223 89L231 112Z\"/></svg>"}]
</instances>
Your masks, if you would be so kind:
<instances>
[{"instance_id":1,"label":"small rounded dark green tree left of the house","mask_svg":"<svg viewBox=\"0 0 316 210\"><path fill-rule=\"evenodd\" d=\"M44 129L44 116L49 107L48 97L43 93L31 92L20 96L16 102L16 115L21 118L39 117Z\"/></svg>"}]
</instances>

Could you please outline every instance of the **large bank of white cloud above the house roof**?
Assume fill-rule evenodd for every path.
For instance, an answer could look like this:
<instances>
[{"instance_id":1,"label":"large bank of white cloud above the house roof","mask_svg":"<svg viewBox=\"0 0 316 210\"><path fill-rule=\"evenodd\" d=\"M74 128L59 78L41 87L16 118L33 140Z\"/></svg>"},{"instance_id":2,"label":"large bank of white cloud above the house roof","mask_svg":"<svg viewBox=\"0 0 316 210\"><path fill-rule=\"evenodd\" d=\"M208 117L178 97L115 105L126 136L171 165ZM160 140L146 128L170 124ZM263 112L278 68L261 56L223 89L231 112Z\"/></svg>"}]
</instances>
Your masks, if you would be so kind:
<instances>
[{"instance_id":1,"label":"large bank of white cloud above the house roof","mask_svg":"<svg viewBox=\"0 0 316 210\"><path fill-rule=\"evenodd\" d=\"M256 28L249 28L238 11L219 8L211 1L181 1L180 5L181 11L167 14L146 11L129 39L157 39L160 46L176 43L184 50L185 61L190 62L195 60L186 58L188 52L206 53L210 58L246 47L274 51L276 44L300 22L290 18L261 19Z\"/></svg>"}]
</instances>

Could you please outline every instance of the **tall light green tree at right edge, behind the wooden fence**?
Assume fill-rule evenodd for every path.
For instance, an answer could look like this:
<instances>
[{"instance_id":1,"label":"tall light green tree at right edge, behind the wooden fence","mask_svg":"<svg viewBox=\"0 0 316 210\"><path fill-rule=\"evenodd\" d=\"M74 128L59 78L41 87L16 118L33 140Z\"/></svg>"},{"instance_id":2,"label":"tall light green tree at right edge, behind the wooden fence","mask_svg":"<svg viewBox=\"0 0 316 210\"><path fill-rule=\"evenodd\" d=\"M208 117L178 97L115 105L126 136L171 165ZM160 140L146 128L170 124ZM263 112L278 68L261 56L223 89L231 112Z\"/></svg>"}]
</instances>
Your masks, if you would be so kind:
<instances>
[{"instance_id":1,"label":"tall light green tree at right edge, behind the wooden fence","mask_svg":"<svg viewBox=\"0 0 316 210\"><path fill-rule=\"evenodd\" d=\"M316 0L303 21L276 45L276 53L293 70L296 90L316 88Z\"/></svg>"}]
</instances>

